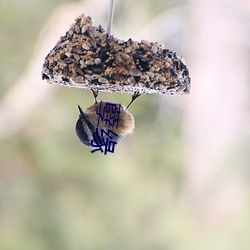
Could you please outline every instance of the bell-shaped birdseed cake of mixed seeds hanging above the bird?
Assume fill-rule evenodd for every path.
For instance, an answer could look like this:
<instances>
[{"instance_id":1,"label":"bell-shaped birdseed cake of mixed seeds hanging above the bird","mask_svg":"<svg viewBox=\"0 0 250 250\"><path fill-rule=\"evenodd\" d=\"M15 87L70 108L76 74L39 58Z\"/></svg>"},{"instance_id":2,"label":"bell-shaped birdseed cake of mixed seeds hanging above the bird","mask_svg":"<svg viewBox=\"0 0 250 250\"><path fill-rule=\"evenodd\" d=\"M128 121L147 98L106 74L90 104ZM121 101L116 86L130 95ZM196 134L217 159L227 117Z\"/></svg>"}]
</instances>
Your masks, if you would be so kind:
<instances>
[{"instance_id":1,"label":"bell-shaped birdseed cake of mixed seeds hanging above the bird","mask_svg":"<svg viewBox=\"0 0 250 250\"><path fill-rule=\"evenodd\" d=\"M188 94L182 57L157 42L123 41L81 15L46 56L43 80L106 92Z\"/></svg>"}]
</instances>

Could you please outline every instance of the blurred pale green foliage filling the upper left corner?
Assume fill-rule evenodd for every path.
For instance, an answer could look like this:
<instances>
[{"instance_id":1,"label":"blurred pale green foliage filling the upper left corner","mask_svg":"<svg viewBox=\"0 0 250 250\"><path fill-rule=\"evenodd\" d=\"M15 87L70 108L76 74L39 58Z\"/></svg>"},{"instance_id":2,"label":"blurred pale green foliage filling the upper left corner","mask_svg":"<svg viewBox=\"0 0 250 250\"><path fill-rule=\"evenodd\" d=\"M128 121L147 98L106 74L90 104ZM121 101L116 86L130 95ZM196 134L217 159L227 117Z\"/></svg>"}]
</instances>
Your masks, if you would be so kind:
<instances>
[{"instance_id":1,"label":"blurred pale green foliage filling the upper left corner","mask_svg":"<svg viewBox=\"0 0 250 250\"><path fill-rule=\"evenodd\" d=\"M67 0L1 0L0 97L25 69L37 36L56 6Z\"/></svg>"}]
</instances>

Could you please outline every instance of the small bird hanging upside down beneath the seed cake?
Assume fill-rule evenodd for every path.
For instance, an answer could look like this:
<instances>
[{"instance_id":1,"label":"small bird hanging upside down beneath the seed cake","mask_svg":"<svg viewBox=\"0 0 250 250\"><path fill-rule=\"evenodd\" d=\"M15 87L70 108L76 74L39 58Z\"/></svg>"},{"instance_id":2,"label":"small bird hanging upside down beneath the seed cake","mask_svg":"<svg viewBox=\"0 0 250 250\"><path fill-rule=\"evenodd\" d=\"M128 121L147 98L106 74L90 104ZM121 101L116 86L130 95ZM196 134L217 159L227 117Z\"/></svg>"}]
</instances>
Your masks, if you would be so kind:
<instances>
[{"instance_id":1,"label":"small bird hanging upside down beneath the seed cake","mask_svg":"<svg viewBox=\"0 0 250 250\"><path fill-rule=\"evenodd\" d=\"M98 91L91 90L94 104L85 111L78 105L79 117L75 126L77 137L84 146L92 149L96 144L100 144L101 140L112 139L113 143L120 144L127 135L133 133L135 127L134 117L128 111L132 101L127 107L119 103L97 101ZM112 118L111 121L107 117Z\"/></svg>"}]
</instances>

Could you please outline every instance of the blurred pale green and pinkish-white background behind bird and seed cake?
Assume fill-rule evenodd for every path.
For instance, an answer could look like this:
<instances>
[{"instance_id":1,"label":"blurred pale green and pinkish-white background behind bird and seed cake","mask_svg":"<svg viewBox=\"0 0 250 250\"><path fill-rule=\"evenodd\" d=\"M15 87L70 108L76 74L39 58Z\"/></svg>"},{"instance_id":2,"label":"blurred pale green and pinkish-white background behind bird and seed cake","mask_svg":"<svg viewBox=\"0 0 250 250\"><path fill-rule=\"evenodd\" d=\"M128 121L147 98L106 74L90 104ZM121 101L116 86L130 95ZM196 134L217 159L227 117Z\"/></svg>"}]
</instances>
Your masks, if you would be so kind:
<instances>
[{"instance_id":1,"label":"blurred pale green and pinkish-white background behind bird and seed cake","mask_svg":"<svg viewBox=\"0 0 250 250\"><path fill-rule=\"evenodd\" d=\"M113 34L176 50L192 89L140 97L104 156L74 131L90 91L41 68L81 13L106 28L108 5L0 2L0 249L249 250L250 1L116 0Z\"/></svg>"}]
</instances>

